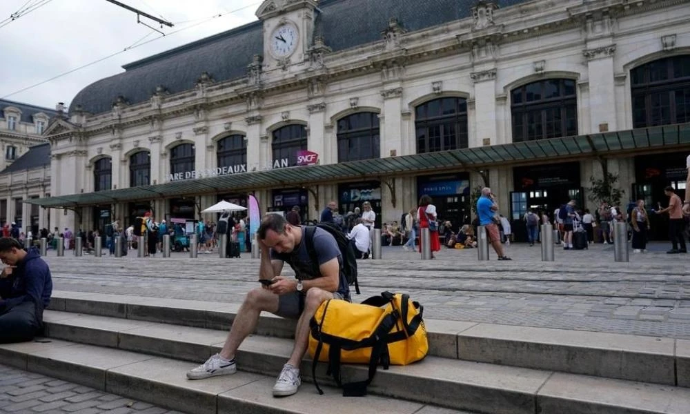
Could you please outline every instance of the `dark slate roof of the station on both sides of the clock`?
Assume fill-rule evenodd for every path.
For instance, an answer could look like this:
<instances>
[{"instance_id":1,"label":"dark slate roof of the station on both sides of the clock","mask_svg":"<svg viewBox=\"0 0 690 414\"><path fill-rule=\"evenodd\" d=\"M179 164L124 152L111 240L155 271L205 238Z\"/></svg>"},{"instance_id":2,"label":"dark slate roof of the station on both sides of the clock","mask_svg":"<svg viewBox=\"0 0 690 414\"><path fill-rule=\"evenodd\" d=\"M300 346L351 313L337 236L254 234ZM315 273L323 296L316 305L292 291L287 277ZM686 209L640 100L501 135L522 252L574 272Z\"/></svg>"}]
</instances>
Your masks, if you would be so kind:
<instances>
[{"instance_id":1,"label":"dark slate roof of the station on both sides of the clock","mask_svg":"<svg viewBox=\"0 0 690 414\"><path fill-rule=\"evenodd\" d=\"M529 0L495 0L501 8ZM476 0L323 0L319 4L315 34L334 51L382 38L395 17L409 32L471 16ZM121 95L129 103L150 99L156 87L175 93L194 87L202 72L215 81L246 75L253 55L263 55L262 22L201 39L124 66L126 72L83 88L72 99L70 112L80 105L91 113L107 112Z\"/></svg>"}]
</instances>

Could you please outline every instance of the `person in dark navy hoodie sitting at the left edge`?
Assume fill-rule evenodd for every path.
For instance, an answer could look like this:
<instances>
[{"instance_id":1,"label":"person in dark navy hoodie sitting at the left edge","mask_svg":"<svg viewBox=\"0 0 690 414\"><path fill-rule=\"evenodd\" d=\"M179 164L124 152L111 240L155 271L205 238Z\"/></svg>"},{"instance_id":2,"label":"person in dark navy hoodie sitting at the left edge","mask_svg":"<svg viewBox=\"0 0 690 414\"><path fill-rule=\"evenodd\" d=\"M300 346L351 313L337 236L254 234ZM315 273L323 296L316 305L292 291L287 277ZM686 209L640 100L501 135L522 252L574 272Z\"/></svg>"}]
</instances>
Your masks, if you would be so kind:
<instances>
[{"instance_id":1,"label":"person in dark navy hoodie sitting at the left edge","mask_svg":"<svg viewBox=\"0 0 690 414\"><path fill-rule=\"evenodd\" d=\"M52 277L39 250L23 250L12 237L0 238L0 344L30 341L43 326Z\"/></svg>"}]
</instances>

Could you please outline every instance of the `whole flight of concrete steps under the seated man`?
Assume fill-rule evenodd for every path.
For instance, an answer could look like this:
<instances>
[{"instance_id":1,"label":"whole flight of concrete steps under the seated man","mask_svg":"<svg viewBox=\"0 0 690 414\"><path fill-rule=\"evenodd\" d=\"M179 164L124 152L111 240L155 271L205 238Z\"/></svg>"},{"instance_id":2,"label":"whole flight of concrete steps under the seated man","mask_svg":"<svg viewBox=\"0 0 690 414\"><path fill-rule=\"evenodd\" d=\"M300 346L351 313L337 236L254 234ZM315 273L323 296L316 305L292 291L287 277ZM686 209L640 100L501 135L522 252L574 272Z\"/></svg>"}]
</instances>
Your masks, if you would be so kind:
<instances>
[{"instance_id":1,"label":"whole flight of concrete steps under the seated man","mask_svg":"<svg viewBox=\"0 0 690 414\"><path fill-rule=\"evenodd\" d=\"M690 341L426 320L430 352L379 369L365 398L342 397L319 365L324 395L302 362L297 395L270 390L295 324L262 315L235 375L185 373L219 351L237 305L55 292L46 339L0 345L17 366L188 413L648 414L690 413ZM344 380L366 377L345 366Z\"/></svg>"}]
</instances>

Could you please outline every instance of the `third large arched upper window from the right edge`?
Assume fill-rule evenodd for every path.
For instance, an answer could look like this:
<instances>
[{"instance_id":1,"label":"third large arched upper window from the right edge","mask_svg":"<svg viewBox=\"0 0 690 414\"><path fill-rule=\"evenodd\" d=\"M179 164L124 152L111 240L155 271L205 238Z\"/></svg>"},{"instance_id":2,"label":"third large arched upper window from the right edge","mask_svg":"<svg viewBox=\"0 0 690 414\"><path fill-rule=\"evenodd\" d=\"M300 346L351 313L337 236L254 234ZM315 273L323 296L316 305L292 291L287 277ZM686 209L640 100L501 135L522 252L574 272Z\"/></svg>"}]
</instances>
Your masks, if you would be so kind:
<instances>
[{"instance_id":1,"label":"third large arched upper window from the right edge","mask_svg":"<svg viewBox=\"0 0 690 414\"><path fill-rule=\"evenodd\" d=\"M467 148L467 101L440 98L415 108L417 154Z\"/></svg>"}]
</instances>

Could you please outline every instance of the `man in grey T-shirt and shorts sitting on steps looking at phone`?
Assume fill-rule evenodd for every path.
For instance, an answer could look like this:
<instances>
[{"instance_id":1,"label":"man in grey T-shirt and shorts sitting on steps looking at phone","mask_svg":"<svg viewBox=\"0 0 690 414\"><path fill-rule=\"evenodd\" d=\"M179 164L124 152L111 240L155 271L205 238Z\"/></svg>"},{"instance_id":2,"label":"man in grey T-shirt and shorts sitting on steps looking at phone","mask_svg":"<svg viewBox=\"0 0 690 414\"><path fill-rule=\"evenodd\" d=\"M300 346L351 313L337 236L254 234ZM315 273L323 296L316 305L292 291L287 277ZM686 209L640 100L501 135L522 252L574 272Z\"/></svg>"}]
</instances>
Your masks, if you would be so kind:
<instances>
[{"instance_id":1,"label":"man in grey T-shirt and shorts sitting on steps looking at phone","mask_svg":"<svg viewBox=\"0 0 690 414\"><path fill-rule=\"evenodd\" d=\"M273 395L297 393L301 384L299 363L308 348L309 320L328 299L350 300L350 288L341 271L342 257L333 235L322 228L315 229L313 246L318 264L311 262L304 235L304 226L288 224L280 215L270 214L264 218L257 231L262 253L259 279L268 282L250 290L237 311L223 349L189 371L187 377L190 380L234 374L237 371L237 348L247 335L254 332L262 311L268 311L297 319L293 352L273 387ZM295 270L297 279L281 275L285 262Z\"/></svg>"}]
</instances>

